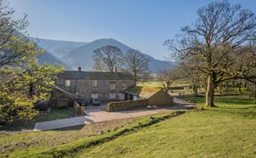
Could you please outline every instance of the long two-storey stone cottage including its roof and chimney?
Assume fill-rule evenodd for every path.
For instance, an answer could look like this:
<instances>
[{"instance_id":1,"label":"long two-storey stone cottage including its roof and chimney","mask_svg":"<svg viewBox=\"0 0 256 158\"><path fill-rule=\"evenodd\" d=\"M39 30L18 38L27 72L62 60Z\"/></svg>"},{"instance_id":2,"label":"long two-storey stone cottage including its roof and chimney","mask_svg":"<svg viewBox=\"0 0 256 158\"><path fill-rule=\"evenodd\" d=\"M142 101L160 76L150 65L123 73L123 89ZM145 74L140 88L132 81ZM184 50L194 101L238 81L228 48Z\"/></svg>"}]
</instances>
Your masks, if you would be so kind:
<instances>
[{"instance_id":1,"label":"long two-storey stone cottage including its roof and chimney","mask_svg":"<svg viewBox=\"0 0 256 158\"><path fill-rule=\"evenodd\" d=\"M53 98L58 100L100 99L100 101L124 100L124 91L135 85L130 73L64 71L58 75Z\"/></svg>"}]
</instances>

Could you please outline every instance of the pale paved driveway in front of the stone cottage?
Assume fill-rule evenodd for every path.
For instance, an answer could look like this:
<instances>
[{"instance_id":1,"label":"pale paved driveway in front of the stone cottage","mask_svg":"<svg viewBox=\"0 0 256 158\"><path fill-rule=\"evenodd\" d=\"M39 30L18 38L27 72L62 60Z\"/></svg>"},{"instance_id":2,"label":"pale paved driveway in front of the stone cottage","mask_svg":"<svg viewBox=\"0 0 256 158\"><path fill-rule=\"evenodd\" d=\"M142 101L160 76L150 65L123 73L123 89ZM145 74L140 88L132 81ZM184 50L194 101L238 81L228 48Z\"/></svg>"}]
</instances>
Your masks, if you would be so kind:
<instances>
[{"instance_id":1,"label":"pale paved driveway in front of the stone cottage","mask_svg":"<svg viewBox=\"0 0 256 158\"><path fill-rule=\"evenodd\" d=\"M60 119L48 122L36 122L34 131L38 130L53 130L65 127L72 127L76 125L91 124L94 122L107 122L117 119L132 118L135 116L154 115L160 112L177 109L189 109L194 106L186 101L180 99L174 99L176 106L165 108L152 108L152 109L138 109L131 111L112 112L108 113L104 111L104 105L100 107L88 107L86 108L86 115L79 117L72 117L67 119Z\"/></svg>"}]
</instances>

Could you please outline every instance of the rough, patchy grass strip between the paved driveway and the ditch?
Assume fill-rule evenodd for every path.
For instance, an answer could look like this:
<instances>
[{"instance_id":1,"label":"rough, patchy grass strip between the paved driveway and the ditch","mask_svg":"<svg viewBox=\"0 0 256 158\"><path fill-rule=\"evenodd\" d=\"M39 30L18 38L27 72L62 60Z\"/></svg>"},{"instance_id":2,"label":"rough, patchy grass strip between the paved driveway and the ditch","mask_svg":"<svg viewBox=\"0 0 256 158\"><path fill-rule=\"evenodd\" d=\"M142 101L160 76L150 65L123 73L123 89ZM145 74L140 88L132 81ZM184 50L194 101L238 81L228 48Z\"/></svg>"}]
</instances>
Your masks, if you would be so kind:
<instances>
[{"instance_id":1,"label":"rough, patchy grass strip between the paved driveway and the ditch","mask_svg":"<svg viewBox=\"0 0 256 158\"><path fill-rule=\"evenodd\" d=\"M100 130L106 132L108 130L118 129L137 119L139 118L100 122L60 130L0 133L0 157L6 154L17 157L20 154L31 154L38 153L42 150L49 150L53 146L68 144L81 138L99 135Z\"/></svg>"}]
</instances>

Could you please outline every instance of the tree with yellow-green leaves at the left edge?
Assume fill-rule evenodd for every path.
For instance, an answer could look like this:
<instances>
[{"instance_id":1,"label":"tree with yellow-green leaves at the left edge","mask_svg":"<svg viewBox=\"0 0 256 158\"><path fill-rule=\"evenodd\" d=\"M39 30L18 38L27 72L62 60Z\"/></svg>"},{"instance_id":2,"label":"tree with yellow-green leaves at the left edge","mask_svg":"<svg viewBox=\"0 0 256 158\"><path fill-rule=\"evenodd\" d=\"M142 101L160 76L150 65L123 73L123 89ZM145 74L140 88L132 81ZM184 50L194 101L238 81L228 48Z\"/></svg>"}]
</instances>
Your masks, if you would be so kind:
<instances>
[{"instance_id":1,"label":"tree with yellow-green leaves at the left edge","mask_svg":"<svg viewBox=\"0 0 256 158\"><path fill-rule=\"evenodd\" d=\"M44 51L28 38L27 16L13 20L13 13L8 2L0 0L0 122L33 118L34 105L50 98L56 75L63 70L38 65Z\"/></svg>"}]
</instances>

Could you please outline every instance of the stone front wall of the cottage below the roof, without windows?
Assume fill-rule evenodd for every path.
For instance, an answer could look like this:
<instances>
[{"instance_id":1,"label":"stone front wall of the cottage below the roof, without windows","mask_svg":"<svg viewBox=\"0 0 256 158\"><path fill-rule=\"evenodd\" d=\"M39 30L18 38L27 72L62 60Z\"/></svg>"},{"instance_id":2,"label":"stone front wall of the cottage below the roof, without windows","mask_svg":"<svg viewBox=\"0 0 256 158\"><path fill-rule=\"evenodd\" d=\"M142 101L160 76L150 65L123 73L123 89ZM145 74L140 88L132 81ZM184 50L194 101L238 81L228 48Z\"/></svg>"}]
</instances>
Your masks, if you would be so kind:
<instances>
[{"instance_id":1,"label":"stone front wall of the cottage below the roof, without windows","mask_svg":"<svg viewBox=\"0 0 256 158\"><path fill-rule=\"evenodd\" d=\"M70 87L66 87L69 91L77 92L80 98L91 99L92 93L98 93L100 101L119 100L119 91L124 91L122 85L126 84L126 88L135 84L133 80L97 80L97 86L92 86L93 80L76 79L70 80ZM65 86L65 80L60 79L60 85ZM110 89L110 83L115 83L115 89ZM115 99L109 99L109 93L115 93Z\"/></svg>"}]
</instances>

